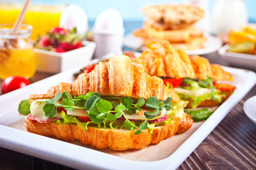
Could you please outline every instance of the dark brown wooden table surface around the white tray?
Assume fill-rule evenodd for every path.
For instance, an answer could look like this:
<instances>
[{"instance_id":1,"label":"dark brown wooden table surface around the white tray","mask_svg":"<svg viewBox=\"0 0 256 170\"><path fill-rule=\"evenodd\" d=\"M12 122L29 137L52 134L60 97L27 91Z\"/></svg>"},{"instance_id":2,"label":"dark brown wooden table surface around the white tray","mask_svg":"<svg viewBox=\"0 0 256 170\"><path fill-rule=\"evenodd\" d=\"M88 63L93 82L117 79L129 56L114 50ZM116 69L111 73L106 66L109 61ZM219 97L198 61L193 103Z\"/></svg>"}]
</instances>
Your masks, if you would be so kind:
<instances>
[{"instance_id":1,"label":"dark brown wooden table surface around the white tray","mask_svg":"<svg viewBox=\"0 0 256 170\"><path fill-rule=\"evenodd\" d=\"M227 65L216 53L211 62ZM255 71L255 70L253 70ZM32 82L52 74L36 73ZM256 95L256 85L191 153L178 169L256 169L256 125L246 117L243 104ZM0 169L70 169L47 160L0 148Z\"/></svg>"}]
</instances>

